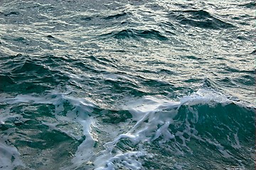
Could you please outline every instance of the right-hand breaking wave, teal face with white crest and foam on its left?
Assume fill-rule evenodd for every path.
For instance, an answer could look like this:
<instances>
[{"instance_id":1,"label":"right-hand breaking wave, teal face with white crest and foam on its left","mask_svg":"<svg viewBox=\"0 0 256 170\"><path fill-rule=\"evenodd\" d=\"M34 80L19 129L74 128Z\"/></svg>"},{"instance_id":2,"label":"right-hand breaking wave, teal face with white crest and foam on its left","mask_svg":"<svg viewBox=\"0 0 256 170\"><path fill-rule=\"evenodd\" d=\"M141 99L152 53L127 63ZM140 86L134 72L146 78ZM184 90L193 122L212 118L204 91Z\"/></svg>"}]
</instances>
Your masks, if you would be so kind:
<instances>
[{"instance_id":1,"label":"right-hand breaking wave, teal face with white crest and foam on its left","mask_svg":"<svg viewBox=\"0 0 256 170\"><path fill-rule=\"evenodd\" d=\"M105 166L98 169L135 164L139 169L254 166L253 151L245 148L255 147L255 108L246 108L204 89L179 102L148 96L127 105L125 108L136 123L105 144L104 156L95 161L100 164L105 160ZM154 154L156 150L158 154ZM115 152L119 154L111 156ZM198 163L198 159L208 165ZM216 163L217 159L223 162ZM163 160L162 164L153 163L159 160Z\"/></svg>"}]
</instances>

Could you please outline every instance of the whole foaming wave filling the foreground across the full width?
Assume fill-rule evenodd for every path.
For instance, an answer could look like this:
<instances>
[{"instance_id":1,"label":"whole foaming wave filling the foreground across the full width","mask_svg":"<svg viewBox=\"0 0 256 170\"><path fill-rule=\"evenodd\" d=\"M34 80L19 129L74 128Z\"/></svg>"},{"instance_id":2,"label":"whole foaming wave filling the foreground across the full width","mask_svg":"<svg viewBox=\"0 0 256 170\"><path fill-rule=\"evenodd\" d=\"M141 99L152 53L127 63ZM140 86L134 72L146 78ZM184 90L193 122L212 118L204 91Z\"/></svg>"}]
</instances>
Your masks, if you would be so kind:
<instances>
[{"instance_id":1,"label":"whole foaming wave filling the foreground across the full width","mask_svg":"<svg viewBox=\"0 0 256 170\"><path fill-rule=\"evenodd\" d=\"M255 107L230 101L211 90L199 89L179 101L154 96L129 99L119 110L106 110L85 98L58 91L49 91L46 96L2 98L0 103L2 108L4 103L22 108L11 109L12 118L1 118L1 130L6 132L16 127L29 132L32 127L38 131L36 138L24 134L10 140L22 157L23 147L36 150L55 146L57 149L52 149L60 152L58 148L62 146L62 153L67 153L68 143L73 144L73 151L65 156L61 169L149 169L150 166L218 169L220 165L250 169L254 166L254 152L250 148L255 147ZM35 111L39 114L34 115ZM54 137L43 137L49 135L57 135L58 140L53 142L50 139ZM54 157L64 161L60 155ZM205 161L198 162L198 159Z\"/></svg>"}]
</instances>

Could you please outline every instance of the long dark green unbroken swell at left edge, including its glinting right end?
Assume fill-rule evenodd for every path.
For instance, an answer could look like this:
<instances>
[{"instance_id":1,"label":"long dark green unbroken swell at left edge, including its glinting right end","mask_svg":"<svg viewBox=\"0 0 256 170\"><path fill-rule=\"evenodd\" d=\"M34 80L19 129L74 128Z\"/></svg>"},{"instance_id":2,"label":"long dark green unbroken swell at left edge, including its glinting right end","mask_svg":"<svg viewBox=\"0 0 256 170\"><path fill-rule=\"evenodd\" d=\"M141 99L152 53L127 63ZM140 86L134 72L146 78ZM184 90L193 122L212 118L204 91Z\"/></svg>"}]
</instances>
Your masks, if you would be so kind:
<instances>
[{"instance_id":1,"label":"long dark green unbroken swell at left edge, including its glinting right end","mask_svg":"<svg viewBox=\"0 0 256 170\"><path fill-rule=\"evenodd\" d=\"M80 85L82 88L85 85L80 84L81 79L78 77L90 79L91 83L93 80L101 81L102 79L99 79L95 73L108 74L105 67L116 67L113 60L104 57L89 56L83 57L83 59L73 59L69 56L42 55L33 57L21 54L11 56L2 54L0 66L0 91L14 94L32 92L41 94L55 89L57 86L66 85L81 89ZM86 74L81 75L78 72ZM126 84L127 82L122 83ZM108 86L109 82L105 81L105 84ZM113 84L117 83L113 82ZM119 85L117 84L117 86ZM122 86L117 87L119 90L121 88Z\"/></svg>"}]
</instances>

